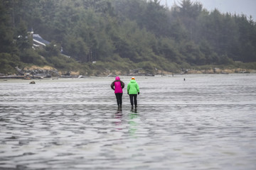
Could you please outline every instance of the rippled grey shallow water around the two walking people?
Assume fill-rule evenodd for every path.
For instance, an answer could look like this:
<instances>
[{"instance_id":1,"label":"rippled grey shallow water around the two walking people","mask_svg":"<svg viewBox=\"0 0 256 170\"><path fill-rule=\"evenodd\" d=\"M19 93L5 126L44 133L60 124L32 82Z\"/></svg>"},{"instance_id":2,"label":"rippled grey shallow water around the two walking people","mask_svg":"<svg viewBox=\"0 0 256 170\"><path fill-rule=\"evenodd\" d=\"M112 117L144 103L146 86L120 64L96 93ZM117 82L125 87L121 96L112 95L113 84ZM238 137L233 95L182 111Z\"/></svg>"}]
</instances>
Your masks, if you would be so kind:
<instances>
[{"instance_id":1,"label":"rippled grey shallow water around the two walking people","mask_svg":"<svg viewBox=\"0 0 256 170\"><path fill-rule=\"evenodd\" d=\"M1 80L0 169L256 169L256 74L121 79Z\"/></svg>"}]
</instances>

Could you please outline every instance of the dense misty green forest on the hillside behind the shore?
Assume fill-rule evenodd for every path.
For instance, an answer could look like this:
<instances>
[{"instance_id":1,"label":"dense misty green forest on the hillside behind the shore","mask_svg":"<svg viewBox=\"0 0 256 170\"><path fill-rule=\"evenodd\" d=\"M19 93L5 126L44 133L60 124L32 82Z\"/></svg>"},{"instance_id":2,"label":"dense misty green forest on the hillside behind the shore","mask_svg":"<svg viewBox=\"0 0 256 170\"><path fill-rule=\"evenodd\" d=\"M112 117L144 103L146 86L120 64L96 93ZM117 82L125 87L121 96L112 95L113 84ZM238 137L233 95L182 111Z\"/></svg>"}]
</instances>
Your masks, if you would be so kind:
<instances>
[{"instance_id":1,"label":"dense misty green forest on the hillside behind the shore","mask_svg":"<svg viewBox=\"0 0 256 170\"><path fill-rule=\"evenodd\" d=\"M137 68L154 73L220 65L256 67L255 21L218 9L207 11L191 0L174 6L163 6L159 0L0 2L2 74L33 64L89 75ZM31 29L50 44L33 48Z\"/></svg>"}]
</instances>

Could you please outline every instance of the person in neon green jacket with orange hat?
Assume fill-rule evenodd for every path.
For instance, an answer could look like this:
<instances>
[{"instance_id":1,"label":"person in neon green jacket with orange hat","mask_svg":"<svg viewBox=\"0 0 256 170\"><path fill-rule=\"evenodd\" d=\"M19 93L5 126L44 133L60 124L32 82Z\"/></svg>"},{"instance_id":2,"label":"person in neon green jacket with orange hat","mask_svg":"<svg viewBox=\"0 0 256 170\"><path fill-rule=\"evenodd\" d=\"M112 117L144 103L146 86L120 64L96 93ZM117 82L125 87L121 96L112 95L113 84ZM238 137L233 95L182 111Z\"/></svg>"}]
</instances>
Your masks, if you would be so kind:
<instances>
[{"instance_id":1,"label":"person in neon green jacket with orange hat","mask_svg":"<svg viewBox=\"0 0 256 170\"><path fill-rule=\"evenodd\" d=\"M139 95L139 85L135 81L134 77L132 77L132 80L129 81L129 84L127 85L127 94L129 94L132 108L134 105L135 108L137 108L137 94Z\"/></svg>"}]
</instances>

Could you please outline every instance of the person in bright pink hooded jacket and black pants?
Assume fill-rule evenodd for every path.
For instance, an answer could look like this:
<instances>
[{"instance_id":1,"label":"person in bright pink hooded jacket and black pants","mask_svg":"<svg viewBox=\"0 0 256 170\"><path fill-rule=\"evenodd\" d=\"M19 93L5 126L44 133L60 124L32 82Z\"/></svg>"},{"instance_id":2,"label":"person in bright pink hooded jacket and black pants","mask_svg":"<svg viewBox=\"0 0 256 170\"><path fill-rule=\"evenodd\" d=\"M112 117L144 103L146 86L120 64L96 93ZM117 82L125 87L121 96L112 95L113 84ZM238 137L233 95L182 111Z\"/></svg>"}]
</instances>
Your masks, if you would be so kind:
<instances>
[{"instance_id":1,"label":"person in bright pink hooded jacket and black pants","mask_svg":"<svg viewBox=\"0 0 256 170\"><path fill-rule=\"evenodd\" d=\"M117 98L117 106L119 109L122 108L122 89L124 89L124 82L120 80L120 77L116 77L115 81L110 85L114 90L114 94Z\"/></svg>"}]
</instances>

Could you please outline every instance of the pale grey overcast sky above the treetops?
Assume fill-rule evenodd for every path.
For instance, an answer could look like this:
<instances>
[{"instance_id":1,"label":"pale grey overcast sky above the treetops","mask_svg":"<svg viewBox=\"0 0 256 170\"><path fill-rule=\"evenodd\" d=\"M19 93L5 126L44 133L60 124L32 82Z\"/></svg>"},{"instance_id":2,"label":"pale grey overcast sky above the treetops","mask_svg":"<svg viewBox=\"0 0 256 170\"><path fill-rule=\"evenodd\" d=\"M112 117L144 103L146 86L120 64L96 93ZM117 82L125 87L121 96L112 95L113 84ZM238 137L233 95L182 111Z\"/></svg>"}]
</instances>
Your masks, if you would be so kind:
<instances>
[{"instance_id":1,"label":"pale grey overcast sky above the treetops","mask_svg":"<svg viewBox=\"0 0 256 170\"><path fill-rule=\"evenodd\" d=\"M179 4L181 0L161 0L161 4L168 4L169 7ZM198 1L203 4L203 8L208 11L213 11L217 8L221 13L232 13L232 14L245 14L247 18L252 16L253 20L256 21L256 0L191 0L193 2Z\"/></svg>"}]
</instances>

